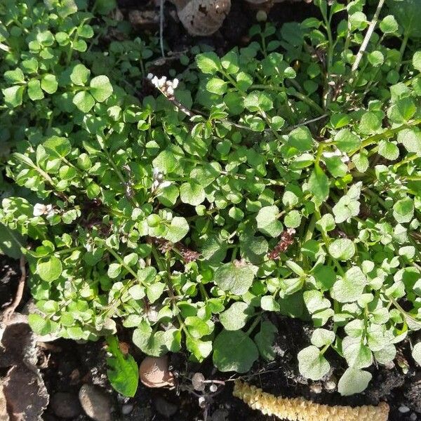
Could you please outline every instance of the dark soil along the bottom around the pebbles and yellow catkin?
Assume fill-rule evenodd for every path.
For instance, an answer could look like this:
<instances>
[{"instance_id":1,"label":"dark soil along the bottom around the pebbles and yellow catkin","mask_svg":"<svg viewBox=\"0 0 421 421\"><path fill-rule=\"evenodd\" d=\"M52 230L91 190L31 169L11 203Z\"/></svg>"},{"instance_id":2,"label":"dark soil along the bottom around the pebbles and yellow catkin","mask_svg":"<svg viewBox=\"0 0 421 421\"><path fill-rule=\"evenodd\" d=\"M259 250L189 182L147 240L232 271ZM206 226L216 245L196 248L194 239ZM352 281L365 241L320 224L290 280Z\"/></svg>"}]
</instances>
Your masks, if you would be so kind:
<instances>
[{"instance_id":1,"label":"dark soil along the bottom around the pebbles and yellow catkin","mask_svg":"<svg viewBox=\"0 0 421 421\"><path fill-rule=\"evenodd\" d=\"M20 277L18 262L1 256L0 270L0 307L5 307L13 299ZM255 363L250 373L243 376L243 380L276 396L303 396L328 405L377 405L380 401L387 401L391 408L389 421L421 419L421 372L413 368L408 341L400 344L393 366L373 366L369 369L373 380L363 394L343 397L335 389L332 391L328 387L345 370L343 361L335 354L328 355L333 373L321 382L309 382L298 373L296 356L300 349L309 344L312 327L303 321L279 316L273 316L271 321L279 330L274 345L276 359L270 363ZM131 332L128 330L119 333L119 338L126 342L128 351L140 362L143 355L137 348L129 345L130 336ZM232 397L232 373L216 372L209 360L202 364L189 363L182 353L171 356L173 373L178 376L176 389L149 389L140 384L133 399L117 394L109 385L105 344L102 341L76 343L71 340L57 340L40 344L39 361L42 363L41 374L51 401L44 413L45 421L90 420L83 413L77 397L81 385L85 383L97 385L108 394L112 402L113 421L273 420L273 417L251 410L239 399ZM403 374L399 366L408 366L408 373ZM225 380L225 385L219 386L214 394L209 391L203 394L194 392L190 378L197 372L203 373L207 379ZM203 406L199 406L199 396L205 397ZM402 413L399 410L402 406L406 406L408 412ZM74 415L59 417L57 413L63 409Z\"/></svg>"}]
</instances>

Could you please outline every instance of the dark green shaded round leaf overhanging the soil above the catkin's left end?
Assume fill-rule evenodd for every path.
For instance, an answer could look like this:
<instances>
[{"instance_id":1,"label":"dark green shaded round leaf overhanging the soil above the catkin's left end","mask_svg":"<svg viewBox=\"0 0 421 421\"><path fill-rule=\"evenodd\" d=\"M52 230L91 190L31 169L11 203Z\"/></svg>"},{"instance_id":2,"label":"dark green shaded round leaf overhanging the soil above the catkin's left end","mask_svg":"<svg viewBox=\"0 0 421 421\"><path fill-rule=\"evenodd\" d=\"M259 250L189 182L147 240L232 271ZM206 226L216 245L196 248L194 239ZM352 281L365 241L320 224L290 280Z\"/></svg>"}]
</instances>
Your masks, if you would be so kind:
<instances>
[{"instance_id":1,"label":"dark green shaded round leaf overhanging the soil above the catkin's left end","mask_svg":"<svg viewBox=\"0 0 421 421\"><path fill-rule=\"evenodd\" d=\"M246 373L258 359L253 340L242 330L222 330L213 344L213 364L222 372Z\"/></svg>"}]
</instances>

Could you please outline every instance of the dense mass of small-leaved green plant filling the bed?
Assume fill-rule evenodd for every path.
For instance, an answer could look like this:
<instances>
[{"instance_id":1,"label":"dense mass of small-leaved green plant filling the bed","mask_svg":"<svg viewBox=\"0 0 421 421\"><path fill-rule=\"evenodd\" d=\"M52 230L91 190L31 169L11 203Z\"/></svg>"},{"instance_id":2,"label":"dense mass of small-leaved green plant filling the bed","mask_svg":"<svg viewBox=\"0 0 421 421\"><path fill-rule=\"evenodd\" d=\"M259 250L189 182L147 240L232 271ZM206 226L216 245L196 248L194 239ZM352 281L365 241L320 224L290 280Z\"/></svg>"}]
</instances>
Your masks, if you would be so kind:
<instances>
[{"instance_id":1,"label":"dense mass of small-leaved green plant filling the bed","mask_svg":"<svg viewBox=\"0 0 421 421\"><path fill-rule=\"evenodd\" d=\"M196 55L171 71L180 83L132 80L149 67L116 58L123 44L106 74L88 69L98 49L78 41L94 18L66 15L72 2L3 11L16 194L0 220L27 241L37 333L95 340L121 321L145 354L183 347L244 373L274 358L276 312L313 321L298 354L313 380L330 349L366 383L363 368L394 359L421 327L421 53L405 22L385 15L363 43L364 1L330 3ZM46 27L25 27L28 4ZM156 42L138 46L133 60ZM133 95L148 84L156 96Z\"/></svg>"}]
</instances>

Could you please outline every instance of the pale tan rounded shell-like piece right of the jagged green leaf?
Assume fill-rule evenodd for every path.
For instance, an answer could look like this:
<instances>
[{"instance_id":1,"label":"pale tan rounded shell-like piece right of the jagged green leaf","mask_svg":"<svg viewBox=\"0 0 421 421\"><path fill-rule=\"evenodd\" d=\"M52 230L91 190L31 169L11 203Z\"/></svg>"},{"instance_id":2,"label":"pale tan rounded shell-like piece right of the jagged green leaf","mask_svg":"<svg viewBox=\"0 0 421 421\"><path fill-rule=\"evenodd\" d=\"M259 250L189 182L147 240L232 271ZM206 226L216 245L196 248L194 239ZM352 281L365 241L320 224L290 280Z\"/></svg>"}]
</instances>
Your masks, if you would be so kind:
<instances>
[{"instance_id":1,"label":"pale tan rounded shell-like piece right of the jagged green leaf","mask_svg":"<svg viewBox=\"0 0 421 421\"><path fill-rule=\"evenodd\" d=\"M140 363L140 381L147 387L174 387L175 378L168 369L168 356L147 356Z\"/></svg>"}]
</instances>

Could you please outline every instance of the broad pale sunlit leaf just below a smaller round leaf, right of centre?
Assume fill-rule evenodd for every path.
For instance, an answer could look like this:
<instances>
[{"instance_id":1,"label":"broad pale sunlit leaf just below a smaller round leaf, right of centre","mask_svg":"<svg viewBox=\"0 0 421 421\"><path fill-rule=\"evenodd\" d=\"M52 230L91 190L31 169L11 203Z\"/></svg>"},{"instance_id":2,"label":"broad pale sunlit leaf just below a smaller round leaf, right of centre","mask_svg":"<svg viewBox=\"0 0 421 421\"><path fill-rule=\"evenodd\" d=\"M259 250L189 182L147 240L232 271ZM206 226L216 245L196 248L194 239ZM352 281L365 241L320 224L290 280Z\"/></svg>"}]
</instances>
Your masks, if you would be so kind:
<instances>
[{"instance_id":1,"label":"broad pale sunlit leaf just below a smaller round leaf, right of centre","mask_svg":"<svg viewBox=\"0 0 421 421\"><path fill-rule=\"evenodd\" d=\"M331 293L339 302L354 302L361 297L366 284L366 275L358 266L353 266L333 284Z\"/></svg>"}]
</instances>

